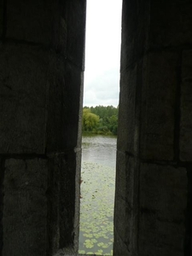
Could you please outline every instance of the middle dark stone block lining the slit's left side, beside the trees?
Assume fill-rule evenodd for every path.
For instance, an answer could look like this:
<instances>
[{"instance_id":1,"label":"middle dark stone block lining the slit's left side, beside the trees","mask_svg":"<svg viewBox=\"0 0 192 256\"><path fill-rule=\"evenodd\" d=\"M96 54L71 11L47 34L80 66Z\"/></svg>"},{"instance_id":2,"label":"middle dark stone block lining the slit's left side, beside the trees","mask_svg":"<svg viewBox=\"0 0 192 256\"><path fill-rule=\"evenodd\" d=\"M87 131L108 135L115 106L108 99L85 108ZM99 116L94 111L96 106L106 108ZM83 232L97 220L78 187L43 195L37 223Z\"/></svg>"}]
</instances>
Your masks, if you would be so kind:
<instances>
[{"instance_id":1,"label":"middle dark stone block lining the slit's left side, beside the trees","mask_svg":"<svg viewBox=\"0 0 192 256\"><path fill-rule=\"evenodd\" d=\"M65 152L80 145L82 72L63 61L61 55L51 55L49 71L47 150Z\"/></svg>"}]
</instances>

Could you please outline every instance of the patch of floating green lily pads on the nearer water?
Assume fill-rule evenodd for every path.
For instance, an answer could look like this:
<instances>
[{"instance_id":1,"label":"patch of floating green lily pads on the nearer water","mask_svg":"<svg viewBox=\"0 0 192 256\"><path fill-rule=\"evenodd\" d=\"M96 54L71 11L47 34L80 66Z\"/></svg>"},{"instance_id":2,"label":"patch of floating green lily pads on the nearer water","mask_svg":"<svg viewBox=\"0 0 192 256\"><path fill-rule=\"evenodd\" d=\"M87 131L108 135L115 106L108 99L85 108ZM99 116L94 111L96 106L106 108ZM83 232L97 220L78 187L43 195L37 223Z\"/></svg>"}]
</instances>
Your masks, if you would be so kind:
<instances>
[{"instance_id":1,"label":"patch of floating green lily pads on the nearer water","mask_svg":"<svg viewBox=\"0 0 192 256\"><path fill-rule=\"evenodd\" d=\"M82 171L79 253L113 255L114 169L83 162Z\"/></svg>"}]
</instances>

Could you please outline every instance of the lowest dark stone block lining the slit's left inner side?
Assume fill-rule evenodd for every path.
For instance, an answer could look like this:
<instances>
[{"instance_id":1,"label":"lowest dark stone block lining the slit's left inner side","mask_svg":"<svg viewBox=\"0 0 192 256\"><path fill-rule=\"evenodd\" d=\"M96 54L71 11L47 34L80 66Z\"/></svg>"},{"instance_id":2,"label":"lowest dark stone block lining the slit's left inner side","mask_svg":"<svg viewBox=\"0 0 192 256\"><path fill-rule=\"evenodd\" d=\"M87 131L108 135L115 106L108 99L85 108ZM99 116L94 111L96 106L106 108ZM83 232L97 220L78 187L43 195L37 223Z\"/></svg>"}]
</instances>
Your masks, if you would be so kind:
<instances>
[{"instance_id":1,"label":"lowest dark stone block lining the slit's left inner side","mask_svg":"<svg viewBox=\"0 0 192 256\"><path fill-rule=\"evenodd\" d=\"M74 246L74 236L76 239L79 236L79 229L74 227L75 218L79 218L75 215L79 214L75 212L79 207L75 180L77 158L73 150L49 155L48 230L49 252L52 254L59 248L76 246L75 250L78 249Z\"/></svg>"}]
</instances>

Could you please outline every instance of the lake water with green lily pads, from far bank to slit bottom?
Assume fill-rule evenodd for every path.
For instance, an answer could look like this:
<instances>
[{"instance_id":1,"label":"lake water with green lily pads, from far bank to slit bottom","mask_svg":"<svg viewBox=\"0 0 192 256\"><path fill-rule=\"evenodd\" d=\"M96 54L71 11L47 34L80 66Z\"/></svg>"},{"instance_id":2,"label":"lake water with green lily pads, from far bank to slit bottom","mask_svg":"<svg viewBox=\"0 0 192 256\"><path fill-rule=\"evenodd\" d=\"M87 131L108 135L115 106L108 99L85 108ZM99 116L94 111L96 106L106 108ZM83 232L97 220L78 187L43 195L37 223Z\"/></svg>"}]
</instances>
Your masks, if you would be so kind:
<instances>
[{"instance_id":1,"label":"lake water with green lily pads, from far bank to slit bottom","mask_svg":"<svg viewBox=\"0 0 192 256\"><path fill-rule=\"evenodd\" d=\"M82 138L79 253L113 254L116 137Z\"/></svg>"}]
</instances>

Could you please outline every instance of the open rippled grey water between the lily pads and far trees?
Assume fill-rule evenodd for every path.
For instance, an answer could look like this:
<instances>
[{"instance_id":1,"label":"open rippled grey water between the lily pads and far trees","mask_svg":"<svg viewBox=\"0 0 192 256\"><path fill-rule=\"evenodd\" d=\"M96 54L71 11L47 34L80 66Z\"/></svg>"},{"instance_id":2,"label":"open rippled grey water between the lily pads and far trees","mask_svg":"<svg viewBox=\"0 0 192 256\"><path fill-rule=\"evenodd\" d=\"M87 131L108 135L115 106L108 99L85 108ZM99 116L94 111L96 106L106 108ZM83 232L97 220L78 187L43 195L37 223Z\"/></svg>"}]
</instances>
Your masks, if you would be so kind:
<instances>
[{"instance_id":1,"label":"open rippled grey water between the lily pads and far trees","mask_svg":"<svg viewBox=\"0 0 192 256\"><path fill-rule=\"evenodd\" d=\"M116 137L89 136L82 138L82 161L115 167Z\"/></svg>"}]
</instances>

